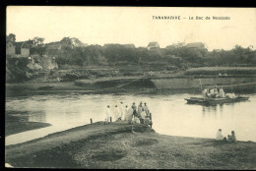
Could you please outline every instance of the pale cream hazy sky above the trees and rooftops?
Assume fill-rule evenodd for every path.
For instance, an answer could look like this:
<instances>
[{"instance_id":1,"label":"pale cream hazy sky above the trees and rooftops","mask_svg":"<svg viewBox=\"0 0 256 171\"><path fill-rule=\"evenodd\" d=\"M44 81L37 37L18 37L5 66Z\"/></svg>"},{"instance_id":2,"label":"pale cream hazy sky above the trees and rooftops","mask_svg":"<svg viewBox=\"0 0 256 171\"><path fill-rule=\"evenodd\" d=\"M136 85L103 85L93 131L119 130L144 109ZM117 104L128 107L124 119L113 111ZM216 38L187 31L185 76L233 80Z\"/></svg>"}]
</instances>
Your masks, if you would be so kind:
<instances>
[{"instance_id":1,"label":"pale cream hazy sky above the trees and rooftops","mask_svg":"<svg viewBox=\"0 0 256 171\"><path fill-rule=\"evenodd\" d=\"M153 16L180 16L180 20ZM204 20L195 20L196 16ZM213 20L213 16L230 20ZM6 27L17 41L39 36L46 43L70 36L99 45L146 47L158 41L164 48L177 42L203 42L209 50L228 50L236 44L256 49L256 8L9 6Z\"/></svg>"}]
</instances>

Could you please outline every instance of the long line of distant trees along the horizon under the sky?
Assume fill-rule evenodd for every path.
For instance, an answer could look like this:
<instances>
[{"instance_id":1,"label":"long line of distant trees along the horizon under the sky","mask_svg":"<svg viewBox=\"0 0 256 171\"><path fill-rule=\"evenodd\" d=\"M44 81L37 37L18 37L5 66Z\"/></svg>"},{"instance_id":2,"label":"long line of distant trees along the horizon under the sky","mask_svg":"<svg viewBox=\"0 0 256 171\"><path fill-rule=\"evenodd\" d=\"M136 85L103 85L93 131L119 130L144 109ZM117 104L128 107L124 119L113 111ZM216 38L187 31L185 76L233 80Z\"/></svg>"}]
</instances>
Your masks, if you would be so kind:
<instances>
[{"instance_id":1,"label":"long line of distant trees along the horizon under the sky","mask_svg":"<svg viewBox=\"0 0 256 171\"><path fill-rule=\"evenodd\" d=\"M15 34L7 39L15 41ZM59 66L100 66L100 65L144 65L161 64L172 68L190 68L202 66L256 66L256 50L251 47L235 45L231 50L213 50L207 48L189 48L182 43L166 48L127 46L122 44L88 45L78 38L64 37L60 41L43 43L44 38L34 37L28 40L31 54L52 55ZM171 48L170 48L171 47Z\"/></svg>"}]
</instances>

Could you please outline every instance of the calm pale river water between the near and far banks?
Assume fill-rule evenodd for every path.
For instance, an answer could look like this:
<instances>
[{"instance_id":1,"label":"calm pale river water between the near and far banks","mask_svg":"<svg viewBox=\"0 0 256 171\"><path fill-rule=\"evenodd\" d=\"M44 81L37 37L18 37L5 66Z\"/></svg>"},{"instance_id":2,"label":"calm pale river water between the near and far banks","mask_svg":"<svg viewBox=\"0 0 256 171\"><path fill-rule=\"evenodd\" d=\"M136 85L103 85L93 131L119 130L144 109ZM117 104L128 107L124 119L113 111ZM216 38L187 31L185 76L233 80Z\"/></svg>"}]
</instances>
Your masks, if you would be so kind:
<instances>
[{"instance_id":1,"label":"calm pale river water between the near and far banks","mask_svg":"<svg viewBox=\"0 0 256 171\"><path fill-rule=\"evenodd\" d=\"M123 101L147 102L153 114L153 128L170 136L215 138L219 128L224 136L233 130L238 141L256 142L256 93L246 94L249 101L216 106L187 104L184 98L200 96L191 93L151 94L42 94L6 98L6 111L25 115L27 121L44 122L50 127L6 137L6 145L27 142L70 128L102 121L106 105ZM12 114L13 113L13 114Z\"/></svg>"}]
</instances>

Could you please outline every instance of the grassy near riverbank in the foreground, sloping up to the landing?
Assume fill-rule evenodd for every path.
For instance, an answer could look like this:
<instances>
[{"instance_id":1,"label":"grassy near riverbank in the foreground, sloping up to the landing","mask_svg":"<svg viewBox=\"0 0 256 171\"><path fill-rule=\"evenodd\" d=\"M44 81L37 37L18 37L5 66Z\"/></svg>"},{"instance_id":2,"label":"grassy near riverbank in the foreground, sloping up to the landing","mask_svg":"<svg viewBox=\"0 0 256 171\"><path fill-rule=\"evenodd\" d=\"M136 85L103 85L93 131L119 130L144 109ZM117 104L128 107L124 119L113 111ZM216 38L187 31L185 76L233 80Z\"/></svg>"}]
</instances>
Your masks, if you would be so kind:
<instances>
[{"instance_id":1,"label":"grassy near riverbank in the foreground, sloping up to the landing","mask_svg":"<svg viewBox=\"0 0 256 171\"><path fill-rule=\"evenodd\" d=\"M255 169L256 142L164 136L124 122L85 125L6 146L14 167L107 169Z\"/></svg>"}]
</instances>

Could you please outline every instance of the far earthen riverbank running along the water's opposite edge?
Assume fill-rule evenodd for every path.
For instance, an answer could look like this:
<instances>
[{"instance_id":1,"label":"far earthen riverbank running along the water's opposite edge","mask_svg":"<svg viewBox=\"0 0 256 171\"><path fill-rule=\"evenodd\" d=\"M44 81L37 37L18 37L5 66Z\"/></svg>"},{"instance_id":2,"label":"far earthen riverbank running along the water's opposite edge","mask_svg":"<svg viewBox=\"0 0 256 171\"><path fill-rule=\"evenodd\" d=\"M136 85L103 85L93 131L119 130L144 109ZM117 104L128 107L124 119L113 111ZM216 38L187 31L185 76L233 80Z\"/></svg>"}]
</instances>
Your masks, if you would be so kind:
<instances>
[{"instance_id":1,"label":"far earthen riverbank running along the water's opposite edge","mask_svg":"<svg viewBox=\"0 0 256 171\"><path fill-rule=\"evenodd\" d=\"M6 95L28 93L116 93L154 92L156 90L198 89L208 86L223 86L225 90L255 91L255 77L111 77L74 82L25 82L6 84Z\"/></svg>"}]
</instances>

